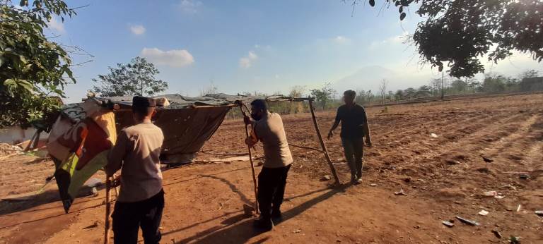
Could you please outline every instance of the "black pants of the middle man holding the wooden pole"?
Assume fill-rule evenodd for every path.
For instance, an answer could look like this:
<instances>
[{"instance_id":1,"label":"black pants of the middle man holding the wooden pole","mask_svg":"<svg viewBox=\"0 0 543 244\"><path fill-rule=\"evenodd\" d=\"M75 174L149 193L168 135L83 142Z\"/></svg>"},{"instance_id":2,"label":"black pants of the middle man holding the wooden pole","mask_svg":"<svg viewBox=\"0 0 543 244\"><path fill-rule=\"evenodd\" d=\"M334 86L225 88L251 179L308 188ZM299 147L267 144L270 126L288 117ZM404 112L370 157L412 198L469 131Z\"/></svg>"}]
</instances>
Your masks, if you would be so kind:
<instances>
[{"instance_id":1,"label":"black pants of the middle man holding the wooden pole","mask_svg":"<svg viewBox=\"0 0 543 244\"><path fill-rule=\"evenodd\" d=\"M258 208L263 218L271 218L271 212L280 213L285 195L286 176L291 165L281 168L262 167L258 175Z\"/></svg>"}]
</instances>

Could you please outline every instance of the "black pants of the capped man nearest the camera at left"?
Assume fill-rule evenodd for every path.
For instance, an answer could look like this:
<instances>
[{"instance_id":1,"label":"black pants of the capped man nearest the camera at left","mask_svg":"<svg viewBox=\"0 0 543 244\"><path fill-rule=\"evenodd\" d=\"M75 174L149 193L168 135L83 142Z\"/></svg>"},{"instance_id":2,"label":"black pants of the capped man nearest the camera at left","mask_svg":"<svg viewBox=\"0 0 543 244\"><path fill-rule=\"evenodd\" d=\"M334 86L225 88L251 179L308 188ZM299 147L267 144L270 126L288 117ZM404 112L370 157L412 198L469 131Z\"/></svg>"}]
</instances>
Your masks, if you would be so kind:
<instances>
[{"instance_id":1,"label":"black pants of the capped man nearest the camera at left","mask_svg":"<svg viewBox=\"0 0 543 244\"><path fill-rule=\"evenodd\" d=\"M164 191L139 202L116 202L113 219L115 243L137 243L141 226L145 243L158 243L162 236L158 227L164 209Z\"/></svg>"}]
</instances>

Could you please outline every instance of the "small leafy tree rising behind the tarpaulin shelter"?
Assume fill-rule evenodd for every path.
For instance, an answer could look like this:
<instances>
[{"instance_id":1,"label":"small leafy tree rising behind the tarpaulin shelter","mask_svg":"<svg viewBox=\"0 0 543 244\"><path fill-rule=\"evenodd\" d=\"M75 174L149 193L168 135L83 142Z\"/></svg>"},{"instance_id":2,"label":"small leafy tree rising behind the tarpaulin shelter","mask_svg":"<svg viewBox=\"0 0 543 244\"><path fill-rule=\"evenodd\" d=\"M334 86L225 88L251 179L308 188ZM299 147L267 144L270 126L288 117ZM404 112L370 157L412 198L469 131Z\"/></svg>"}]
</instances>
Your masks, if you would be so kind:
<instances>
[{"instance_id":1,"label":"small leafy tree rising behind the tarpaulin shelter","mask_svg":"<svg viewBox=\"0 0 543 244\"><path fill-rule=\"evenodd\" d=\"M139 56L130 63L117 63L116 68L107 68L110 73L93 79L93 82L98 83L93 91L102 97L153 96L168 90L167 82L155 78L160 71L153 63Z\"/></svg>"}]
</instances>

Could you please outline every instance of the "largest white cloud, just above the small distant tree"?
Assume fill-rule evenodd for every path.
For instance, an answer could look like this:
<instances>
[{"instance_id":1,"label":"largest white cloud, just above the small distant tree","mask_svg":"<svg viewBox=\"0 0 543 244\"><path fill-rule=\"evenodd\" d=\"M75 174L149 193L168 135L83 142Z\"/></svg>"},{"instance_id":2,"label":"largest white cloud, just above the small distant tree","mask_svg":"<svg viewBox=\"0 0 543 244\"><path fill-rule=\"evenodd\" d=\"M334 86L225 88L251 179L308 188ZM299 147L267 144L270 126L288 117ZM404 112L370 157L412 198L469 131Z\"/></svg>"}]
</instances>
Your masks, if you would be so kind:
<instances>
[{"instance_id":1,"label":"largest white cloud, just above the small distant tree","mask_svg":"<svg viewBox=\"0 0 543 244\"><path fill-rule=\"evenodd\" d=\"M162 51L156 47L144 48L141 50L141 56L156 65L163 66L182 67L194 63L194 57L185 49Z\"/></svg>"}]
</instances>

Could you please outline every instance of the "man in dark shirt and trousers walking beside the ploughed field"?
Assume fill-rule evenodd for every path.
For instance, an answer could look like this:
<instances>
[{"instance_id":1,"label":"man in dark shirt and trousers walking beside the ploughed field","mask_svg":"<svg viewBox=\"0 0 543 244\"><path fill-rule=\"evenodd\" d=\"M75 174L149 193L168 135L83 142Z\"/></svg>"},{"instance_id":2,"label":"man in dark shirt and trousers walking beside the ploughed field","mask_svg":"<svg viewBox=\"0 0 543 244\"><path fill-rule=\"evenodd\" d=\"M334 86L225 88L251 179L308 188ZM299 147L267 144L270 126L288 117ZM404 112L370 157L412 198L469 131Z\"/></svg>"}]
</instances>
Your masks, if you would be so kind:
<instances>
[{"instance_id":1,"label":"man in dark shirt and trousers walking beside the ploughed field","mask_svg":"<svg viewBox=\"0 0 543 244\"><path fill-rule=\"evenodd\" d=\"M353 90L344 92L345 104L337 109L336 121L330 128L328 139L334 136L334 130L341 122L341 143L343 144L349 169L351 169L351 182L358 184L361 182L362 177L364 137L368 147L371 147L371 139L366 110L354 102L355 97L356 92Z\"/></svg>"}]
</instances>

